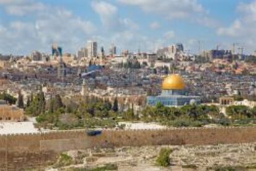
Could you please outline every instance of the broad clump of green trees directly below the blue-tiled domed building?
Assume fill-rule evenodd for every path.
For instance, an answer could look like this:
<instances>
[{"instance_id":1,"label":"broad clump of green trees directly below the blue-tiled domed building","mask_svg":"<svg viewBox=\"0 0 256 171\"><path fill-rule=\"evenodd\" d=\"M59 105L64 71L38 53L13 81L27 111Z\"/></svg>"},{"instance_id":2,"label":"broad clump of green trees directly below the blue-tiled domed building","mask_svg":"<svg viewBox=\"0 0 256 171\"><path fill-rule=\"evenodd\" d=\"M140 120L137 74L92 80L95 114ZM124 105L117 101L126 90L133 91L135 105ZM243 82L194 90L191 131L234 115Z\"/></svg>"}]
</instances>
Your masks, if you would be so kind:
<instances>
[{"instance_id":1,"label":"broad clump of green trees directly below the blue-tiled domed building","mask_svg":"<svg viewBox=\"0 0 256 171\"><path fill-rule=\"evenodd\" d=\"M141 120L145 122L160 122L172 127L202 127L210 123L229 125L218 107L207 105L186 105L181 108L166 107L159 103L147 106L141 113Z\"/></svg>"}]
</instances>

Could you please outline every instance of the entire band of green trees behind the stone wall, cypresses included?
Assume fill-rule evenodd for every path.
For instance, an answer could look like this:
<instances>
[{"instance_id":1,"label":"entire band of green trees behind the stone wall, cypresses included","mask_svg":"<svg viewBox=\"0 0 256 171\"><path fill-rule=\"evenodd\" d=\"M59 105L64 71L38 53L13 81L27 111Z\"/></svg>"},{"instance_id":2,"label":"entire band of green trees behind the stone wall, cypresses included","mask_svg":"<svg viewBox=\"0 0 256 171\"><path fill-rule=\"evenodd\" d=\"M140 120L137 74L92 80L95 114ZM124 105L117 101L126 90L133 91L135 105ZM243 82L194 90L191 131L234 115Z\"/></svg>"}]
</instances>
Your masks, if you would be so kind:
<instances>
[{"instance_id":1,"label":"entire band of green trees behind the stone wall, cypresses included","mask_svg":"<svg viewBox=\"0 0 256 171\"><path fill-rule=\"evenodd\" d=\"M159 103L147 106L139 114L133 107L126 111L119 110L117 98L114 102L95 97L85 97L66 103L56 94L46 104L42 91L28 99L25 108L27 115L36 117L38 127L72 129L108 127L114 128L117 121L158 122L170 127L202 127L211 123L218 125L244 125L256 123L256 107L229 106L224 115L217 106L187 105L166 107Z\"/></svg>"}]
</instances>

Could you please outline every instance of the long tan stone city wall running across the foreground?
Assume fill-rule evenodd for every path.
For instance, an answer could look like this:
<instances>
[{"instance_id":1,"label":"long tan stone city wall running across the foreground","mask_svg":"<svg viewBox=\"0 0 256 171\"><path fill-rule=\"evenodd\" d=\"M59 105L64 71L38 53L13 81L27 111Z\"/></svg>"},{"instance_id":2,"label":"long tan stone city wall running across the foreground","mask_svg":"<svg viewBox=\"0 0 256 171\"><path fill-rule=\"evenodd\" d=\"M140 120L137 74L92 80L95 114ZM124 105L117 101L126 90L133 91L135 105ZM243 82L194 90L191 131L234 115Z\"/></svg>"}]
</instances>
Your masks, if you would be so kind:
<instances>
[{"instance_id":1,"label":"long tan stone city wall running across the foreground","mask_svg":"<svg viewBox=\"0 0 256 171\"><path fill-rule=\"evenodd\" d=\"M255 127L177 128L167 130L85 130L0 136L0 170L43 168L62 151L153 145L207 145L256 142Z\"/></svg>"}]
</instances>

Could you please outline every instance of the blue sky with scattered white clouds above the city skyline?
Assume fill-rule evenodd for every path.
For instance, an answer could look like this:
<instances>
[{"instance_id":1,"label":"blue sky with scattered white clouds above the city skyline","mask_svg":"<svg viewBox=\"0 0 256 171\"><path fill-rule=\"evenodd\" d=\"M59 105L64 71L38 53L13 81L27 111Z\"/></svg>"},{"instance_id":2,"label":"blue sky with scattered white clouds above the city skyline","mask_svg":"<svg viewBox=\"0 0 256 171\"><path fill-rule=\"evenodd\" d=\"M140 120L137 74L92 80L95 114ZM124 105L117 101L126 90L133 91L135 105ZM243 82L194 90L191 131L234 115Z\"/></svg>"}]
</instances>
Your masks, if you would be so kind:
<instances>
[{"instance_id":1,"label":"blue sky with scattered white clouds above the city skyline","mask_svg":"<svg viewBox=\"0 0 256 171\"><path fill-rule=\"evenodd\" d=\"M95 40L106 51L256 50L256 0L0 0L0 54L75 53ZM198 44L200 42L200 48Z\"/></svg>"}]
</instances>

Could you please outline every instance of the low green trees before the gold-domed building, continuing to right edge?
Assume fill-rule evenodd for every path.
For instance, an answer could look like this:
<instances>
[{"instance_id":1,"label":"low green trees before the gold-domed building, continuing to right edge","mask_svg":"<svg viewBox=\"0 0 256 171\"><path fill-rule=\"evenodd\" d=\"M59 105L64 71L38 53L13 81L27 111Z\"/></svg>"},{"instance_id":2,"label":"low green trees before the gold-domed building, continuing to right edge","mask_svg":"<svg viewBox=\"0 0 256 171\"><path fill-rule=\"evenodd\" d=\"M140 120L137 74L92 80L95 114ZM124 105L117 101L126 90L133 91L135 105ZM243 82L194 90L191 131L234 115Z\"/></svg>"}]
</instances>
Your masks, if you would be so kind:
<instances>
[{"instance_id":1,"label":"low green trees before the gold-domed building, continuing to right edge","mask_svg":"<svg viewBox=\"0 0 256 171\"><path fill-rule=\"evenodd\" d=\"M162 104L148 106L142 111L140 120L160 122L173 127L202 127L208 124L248 125L256 123L256 106L229 106L224 115L217 106L186 105L181 108Z\"/></svg>"}]
</instances>

